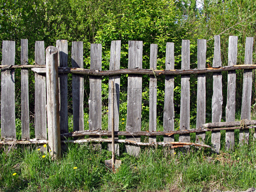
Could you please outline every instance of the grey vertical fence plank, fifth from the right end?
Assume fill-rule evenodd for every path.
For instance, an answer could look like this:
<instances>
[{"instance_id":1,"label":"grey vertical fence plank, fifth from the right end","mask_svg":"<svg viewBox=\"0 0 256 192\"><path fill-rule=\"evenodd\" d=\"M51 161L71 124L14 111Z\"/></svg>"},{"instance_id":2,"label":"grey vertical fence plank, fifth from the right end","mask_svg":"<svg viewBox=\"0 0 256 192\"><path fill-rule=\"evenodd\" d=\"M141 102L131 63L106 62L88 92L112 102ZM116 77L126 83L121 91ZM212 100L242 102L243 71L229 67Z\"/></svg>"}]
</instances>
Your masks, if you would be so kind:
<instances>
[{"instance_id":1,"label":"grey vertical fence plank, fifth from the right end","mask_svg":"<svg viewBox=\"0 0 256 192\"><path fill-rule=\"evenodd\" d=\"M190 41L182 40L181 69L190 68ZM180 93L180 130L190 129L190 75L181 76ZM190 142L190 135L179 136L180 142Z\"/></svg>"}]
</instances>

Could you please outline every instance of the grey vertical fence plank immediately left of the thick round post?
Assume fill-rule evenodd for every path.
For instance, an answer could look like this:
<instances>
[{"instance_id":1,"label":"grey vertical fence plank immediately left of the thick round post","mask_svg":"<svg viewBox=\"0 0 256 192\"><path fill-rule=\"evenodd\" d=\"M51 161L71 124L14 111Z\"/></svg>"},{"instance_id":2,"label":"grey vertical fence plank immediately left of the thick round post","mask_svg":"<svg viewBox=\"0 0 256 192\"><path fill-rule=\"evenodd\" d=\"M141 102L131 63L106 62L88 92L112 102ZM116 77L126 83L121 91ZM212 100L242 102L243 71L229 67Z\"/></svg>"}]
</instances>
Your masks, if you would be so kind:
<instances>
[{"instance_id":1,"label":"grey vertical fence plank immediately left of the thick round post","mask_svg":"<svg viewBox=\"0 0 256 192\"><path fill-rule=\"evenodd\" d=\"M35 63L45 65L44 41L35 42ZM35 73L35 137L47 139L46 128L46 77ZM45 148L41 148L43 151Z\"/></svg>"}]
</instances>

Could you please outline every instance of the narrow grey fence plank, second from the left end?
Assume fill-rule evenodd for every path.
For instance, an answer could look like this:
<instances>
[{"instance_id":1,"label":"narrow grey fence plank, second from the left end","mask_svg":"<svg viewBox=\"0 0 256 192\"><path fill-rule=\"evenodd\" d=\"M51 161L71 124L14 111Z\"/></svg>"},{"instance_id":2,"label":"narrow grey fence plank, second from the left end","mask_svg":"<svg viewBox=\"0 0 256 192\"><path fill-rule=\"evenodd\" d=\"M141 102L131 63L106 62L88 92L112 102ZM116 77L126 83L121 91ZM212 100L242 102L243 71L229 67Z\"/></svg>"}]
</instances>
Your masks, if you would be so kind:
<instances>
[{"instance_id":1,"label":"narrow grey fence plank, second from the left end","mask_svg":"<svg viewBox=\"0 0 256 192\"><path fill-rule=\"evenodd\" d=\"M21 39L21 65L28 64L28 40ZM29 135L29 71L21 69L21 140Z\"/></svg>"}]
</instances>

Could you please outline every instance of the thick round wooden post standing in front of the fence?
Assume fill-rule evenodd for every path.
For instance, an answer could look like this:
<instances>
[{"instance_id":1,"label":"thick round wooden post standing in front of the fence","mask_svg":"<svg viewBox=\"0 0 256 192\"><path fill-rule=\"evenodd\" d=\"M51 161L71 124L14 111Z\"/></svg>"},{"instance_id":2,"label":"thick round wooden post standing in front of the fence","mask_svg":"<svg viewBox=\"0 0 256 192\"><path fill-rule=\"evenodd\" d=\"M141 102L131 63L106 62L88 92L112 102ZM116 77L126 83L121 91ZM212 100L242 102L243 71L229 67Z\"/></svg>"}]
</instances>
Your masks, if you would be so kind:
<instances>
[{"instance_id":1,"label":"thick round wooden post standing in front of the fence","mask_svg":"<svg viewBox=\"0 0 256 192\"><path fill-rule=\"evenodd\" d=\"M45 54L48 141L51 158L58 160L61 158L58 49L49 46Z\"/></svg>"}]
</instances>

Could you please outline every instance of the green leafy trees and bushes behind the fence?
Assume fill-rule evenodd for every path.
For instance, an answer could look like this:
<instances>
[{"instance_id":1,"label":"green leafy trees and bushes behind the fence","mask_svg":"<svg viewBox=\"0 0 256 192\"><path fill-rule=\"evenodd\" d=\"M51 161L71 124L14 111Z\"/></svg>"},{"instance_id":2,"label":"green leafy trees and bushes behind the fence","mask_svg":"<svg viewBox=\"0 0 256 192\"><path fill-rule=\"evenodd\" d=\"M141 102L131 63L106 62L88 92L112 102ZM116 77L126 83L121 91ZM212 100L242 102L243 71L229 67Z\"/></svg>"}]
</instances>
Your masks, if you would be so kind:
<instances>
[{"instance_id":1,"label":"green leafy trees and bushes behind the fence","mask_svg":"<svg viewBox=\"0 0 256 192\"><path fill-rule=\"evenodd\" d=\"M196 6L201 3L202 6ZM207 64L213 60L213 37L221 35L222 65L227 65L228 37L238 36L237 64L243 64L246 37L256 38L255 0L0 0L0 37L16 42L16 64L20 63L20 40L29 40L29 64L33 63L36 40L44 40L45 47L55 45L57 39L69 42L69 66L71 42L84 42L84 67L90 66L90 43L102 43L102 69L109 68L111 40L121 40L121 68L127 68L128 41L143 41L143 68L149 68L150 43L158 45L157 69L165 68L166 42L175 44L175 68L181 67L181 40L191 41L191 68L197 67L197 39L207 40ZM2 47L0 46L0 52ZM256 46L253 62L255 64ZM1 60L1 53L0 53ZM207 78L207 90L212 90L212 78ZM19 79L19 74L16 79ZM242 71L237 71L237 110L241 105ZM254 73L255 79L255 73ZM103 78L102 98L107 103L108 79ZM196 114L196 76L191 75L191 116ZM33 89L31 73L29 85ZM71 78L69 78L71 81ZM88 81L88 78L85 78ZM255 93L255 80L253 82ZM148 77L143 77L143 116L148 115ZM223 73L223 96L227 90L227 74ZM69 83L71 85L71 83ZM127 87L127 78L121 77L121 86ZM16 81L16 90L20 83ZM122 88L121 87L121 88ZM69 89L71 90L71 89ZM85 109L88 107L88 83L85 83ZM164 79L158 77L158 116L163 115ZM20 91L17 91L18 98ZM126 113L127 96L121 93L121 113ZM207 93L207 113L211 112L212 92ZM254 96L254 95L253 95ZM71 102L71 91L69 92ZM33 92L30 94L33 100ZM17 102L19 100L17 99ZM175 109L180 103L180 77L175 77ZM16 105L20 114L20 105ZM71 104L69 103L72 113ZM105 106L107 106L105 104ZM30 105L33 111L33 104ZM85 110L86 111L86 110ZM225 111L225 110L223 110Z\"/></svg>"}]
</instances>

